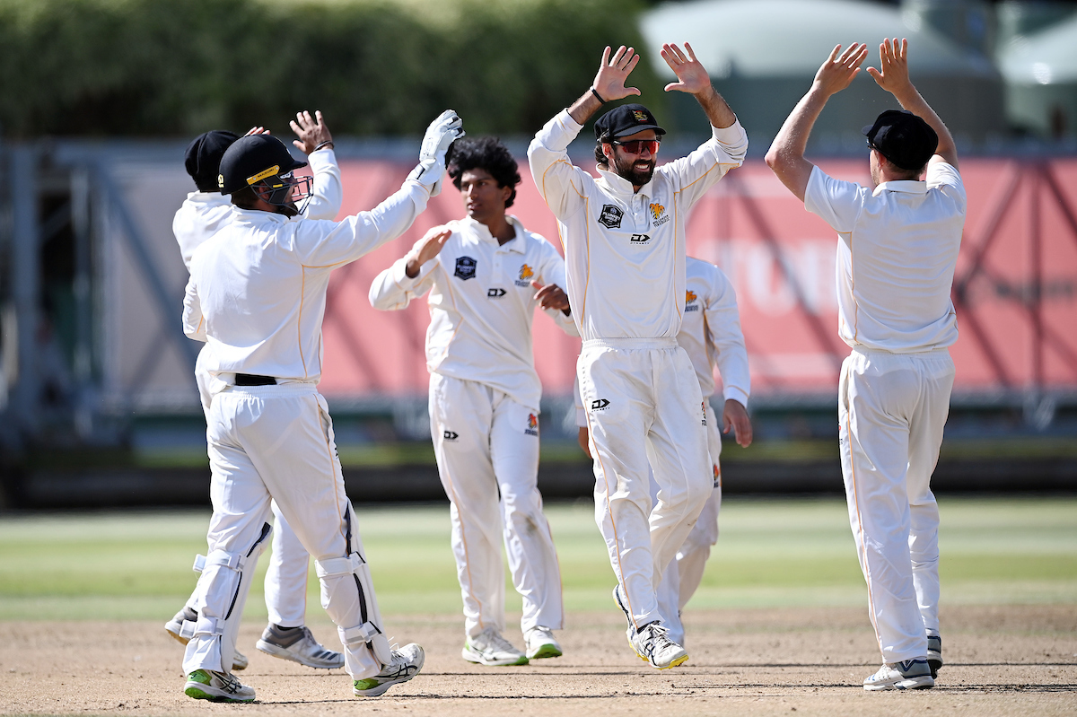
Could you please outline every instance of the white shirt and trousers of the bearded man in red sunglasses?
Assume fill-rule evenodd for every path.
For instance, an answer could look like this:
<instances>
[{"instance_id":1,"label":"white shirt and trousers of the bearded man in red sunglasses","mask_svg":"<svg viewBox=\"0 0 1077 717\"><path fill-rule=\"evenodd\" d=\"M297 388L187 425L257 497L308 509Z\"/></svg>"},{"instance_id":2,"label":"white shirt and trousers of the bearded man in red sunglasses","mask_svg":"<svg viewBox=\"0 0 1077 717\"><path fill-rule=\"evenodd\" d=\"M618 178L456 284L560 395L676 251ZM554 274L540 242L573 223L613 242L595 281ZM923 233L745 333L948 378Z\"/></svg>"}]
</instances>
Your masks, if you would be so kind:
<instances>
[{"instance_id":1,"label":"white shirt and trousers of the bearded man in red sunglasses","mask_svg":"<svg viewBox=\"0 0 1077 717\"><path fill-rule=\"evenodd\" d=\"M528 158L557 216L568 294L579 335L581 392L595 458L595 515L635 627L660 619L655 588L712 490L705 412L677 346L685 296L685 222L691 207L739 167L739 123L655 170L633 192L616 173L574 167L583 128L568 110L535 136ZM645 438L645 440L641 440ZM649 460L648 460L649 454ZM647 466L658 501L652 510Z\"/></svg>"}]
</instances>

